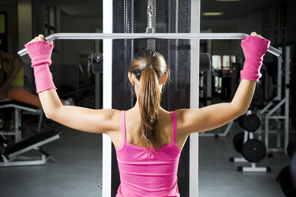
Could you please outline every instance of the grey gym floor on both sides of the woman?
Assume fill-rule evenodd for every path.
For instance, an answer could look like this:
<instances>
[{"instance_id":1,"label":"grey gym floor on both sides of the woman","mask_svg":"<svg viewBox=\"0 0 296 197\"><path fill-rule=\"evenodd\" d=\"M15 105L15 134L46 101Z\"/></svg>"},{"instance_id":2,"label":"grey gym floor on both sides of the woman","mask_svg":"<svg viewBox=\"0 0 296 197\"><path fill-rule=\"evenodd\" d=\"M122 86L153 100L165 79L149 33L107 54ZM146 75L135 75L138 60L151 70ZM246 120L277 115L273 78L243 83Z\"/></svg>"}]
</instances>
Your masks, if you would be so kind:
<instances>
[{"instance_id":1,"label":"grey gym floor on both sides of the woman","mask_svg":"<svg viewBox=\"0 0 296 197\"><path fill-rule=\"evenodd\" d=\"M43 166L0 168L1 196L102 196L102 135L61 128L61 139L43 145L43 149L57 159ZM225 126L215 132L223 132ZM232 138L242 129L233 124L226 137L199 138L199 196L284 196L276 177L289 164L288 155L274 153L256 166L270 166L271 172L238 172L237 166L251 164L231 163L229 157L242 157L235 151ZM27 132L27 136L33 134ZM295 139L290 134L290 139ZM39 155L36 150L26 155Z\"/></svg>"}]
</instances>

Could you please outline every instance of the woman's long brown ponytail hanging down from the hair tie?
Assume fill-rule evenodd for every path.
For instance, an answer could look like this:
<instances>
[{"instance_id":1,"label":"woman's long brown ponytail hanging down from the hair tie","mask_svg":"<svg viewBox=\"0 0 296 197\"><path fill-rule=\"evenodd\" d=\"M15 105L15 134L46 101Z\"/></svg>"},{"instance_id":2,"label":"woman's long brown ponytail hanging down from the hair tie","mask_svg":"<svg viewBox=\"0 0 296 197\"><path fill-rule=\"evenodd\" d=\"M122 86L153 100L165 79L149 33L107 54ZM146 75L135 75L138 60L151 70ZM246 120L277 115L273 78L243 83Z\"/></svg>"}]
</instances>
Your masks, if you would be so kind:
<instances>
[{"instance_id":1,"label":"woman's long brown ponytail hanging down from the hair tie","mask_svg":"<svg viewBox=\"0 0 296 197\"><path fill-rule=\"evenodd\" d=\"M140 78L138 102L142 120L141 141L148 148L157 151L161 146L157 132L158 109L161 103L161 90L158 77L151 64L147 64Z\"/></svg>"}]
</instances>

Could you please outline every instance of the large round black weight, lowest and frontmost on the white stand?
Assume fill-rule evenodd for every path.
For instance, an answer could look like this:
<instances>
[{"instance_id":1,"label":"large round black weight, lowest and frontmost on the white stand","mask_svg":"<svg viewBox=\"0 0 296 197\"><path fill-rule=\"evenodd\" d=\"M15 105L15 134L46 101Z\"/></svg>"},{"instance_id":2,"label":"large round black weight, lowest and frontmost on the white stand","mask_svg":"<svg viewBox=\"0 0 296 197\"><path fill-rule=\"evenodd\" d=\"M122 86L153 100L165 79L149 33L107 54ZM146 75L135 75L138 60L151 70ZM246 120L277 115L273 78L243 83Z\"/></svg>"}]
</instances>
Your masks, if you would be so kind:
<instances>
[{"instance_id":1,"label":"large round black weight, lowest and frontmost on the white stand","mask_svg":"<svg viewBox=\"0 0 296 197\"><path fill-rule=\"evenodd\" d=\"M249 139L242 146L242 156L252 163L261 161L266 156L265 144L258 139Z\"/></svg>"}]
</instances>

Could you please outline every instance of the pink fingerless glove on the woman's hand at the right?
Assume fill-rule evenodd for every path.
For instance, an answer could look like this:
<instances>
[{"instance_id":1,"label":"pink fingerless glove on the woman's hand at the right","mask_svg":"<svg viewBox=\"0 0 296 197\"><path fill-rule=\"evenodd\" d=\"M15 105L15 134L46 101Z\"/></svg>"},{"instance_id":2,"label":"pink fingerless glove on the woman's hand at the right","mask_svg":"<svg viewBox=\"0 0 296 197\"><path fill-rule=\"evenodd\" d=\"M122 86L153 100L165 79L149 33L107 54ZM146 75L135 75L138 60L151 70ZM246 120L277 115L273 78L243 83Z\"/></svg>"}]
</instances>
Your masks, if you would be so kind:
<instances>
[{"instance_id":1,"label":"pink fingerless glove on the woman's hand at the right","mask_svg":"<svg viewBox=\"0 0 296 197\"><path fill-rule=\"evenodd\" d=\"M246 61L244 68L241 71L241 79L258 81L262 74L260 68L262 65L263 56L267 52L270 41L257 36L246 36L242 41L242 49Z\"/></svg>"}]
</instances>

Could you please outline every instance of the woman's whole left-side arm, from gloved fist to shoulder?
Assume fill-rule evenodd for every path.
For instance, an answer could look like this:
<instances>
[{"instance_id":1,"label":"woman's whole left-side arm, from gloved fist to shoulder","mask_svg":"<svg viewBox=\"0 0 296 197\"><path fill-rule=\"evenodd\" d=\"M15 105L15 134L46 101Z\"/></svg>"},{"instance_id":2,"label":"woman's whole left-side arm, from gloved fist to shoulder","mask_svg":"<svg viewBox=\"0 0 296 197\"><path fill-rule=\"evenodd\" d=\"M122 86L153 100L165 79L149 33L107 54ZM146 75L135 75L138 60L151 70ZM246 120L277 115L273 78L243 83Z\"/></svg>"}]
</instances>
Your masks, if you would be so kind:
<instances>
[{"instance_id":1,"label":"woman's whole left-side arm, from gloved fist to shoulder","mask_svg":"<svg viewBox=\"0 0 296 197\"><path fill-rule=\"evenodd\" d=\"M36 90L47 118L85 132L106 133L120 130L120 111L64 106L59 100L49 69L52 44L42 35L25 45L31 58Z\"/></svg>"}]
</instances>

